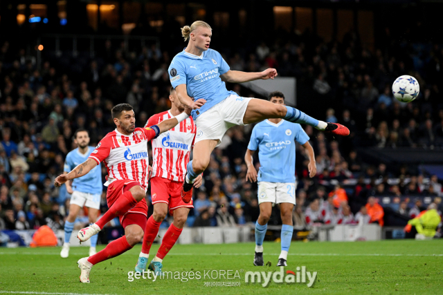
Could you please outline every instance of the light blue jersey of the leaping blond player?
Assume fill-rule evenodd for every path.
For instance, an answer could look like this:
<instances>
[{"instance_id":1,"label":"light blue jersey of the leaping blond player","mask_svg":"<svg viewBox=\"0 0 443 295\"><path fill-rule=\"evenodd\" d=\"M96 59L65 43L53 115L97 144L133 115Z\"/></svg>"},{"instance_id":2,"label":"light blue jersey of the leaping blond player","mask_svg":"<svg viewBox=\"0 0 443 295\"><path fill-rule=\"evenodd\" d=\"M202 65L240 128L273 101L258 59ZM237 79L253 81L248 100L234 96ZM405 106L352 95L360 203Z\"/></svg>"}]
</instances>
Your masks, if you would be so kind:
<instances>
[{"instance_id":1,"label":"light blue jersey of the leaping blond player","mask_svg":"<svg viewBox=\"0 0 443 295\"><path fill-rule=\"evenodd\" d=\"M233 91L228 91L226 84L221 81L220 75L228 70L229 66L223 57L212 49L204 51L201 56L186 53L183 49L172 59L168 68L172 86L176 88L186 84L186 91L190 97L194 97L195 100L206 99L204 106L192 111L194 120L229 95L237 95Z\"/></svg>"}]
</instances>

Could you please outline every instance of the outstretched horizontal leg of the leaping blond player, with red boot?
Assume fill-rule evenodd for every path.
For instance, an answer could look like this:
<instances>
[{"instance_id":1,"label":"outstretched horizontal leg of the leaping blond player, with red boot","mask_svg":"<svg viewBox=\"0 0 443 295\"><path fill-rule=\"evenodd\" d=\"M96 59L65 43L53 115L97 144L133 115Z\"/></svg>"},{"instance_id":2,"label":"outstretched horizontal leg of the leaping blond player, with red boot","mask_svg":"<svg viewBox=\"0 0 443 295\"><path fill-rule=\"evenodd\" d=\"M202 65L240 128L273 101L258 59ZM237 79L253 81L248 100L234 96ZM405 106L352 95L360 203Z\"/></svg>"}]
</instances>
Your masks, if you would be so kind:
<instances>
[{"instance_id":1,"label":"outstretched horizontal leg of the leaping blond player, with red boot","mask_svg":"<svg viewBox=\"0 0 443 295\"><path fill-rule=\"evenodd\" d=\"M307 124L320 131L331 132L336 135L349 135L347 127L337 123L319 121L306 115L297 108L273 104L263 99L251 99L243 117L244 124L260 122L265 119L281 118L292 123Z\"/></svg>"}]
</instances>

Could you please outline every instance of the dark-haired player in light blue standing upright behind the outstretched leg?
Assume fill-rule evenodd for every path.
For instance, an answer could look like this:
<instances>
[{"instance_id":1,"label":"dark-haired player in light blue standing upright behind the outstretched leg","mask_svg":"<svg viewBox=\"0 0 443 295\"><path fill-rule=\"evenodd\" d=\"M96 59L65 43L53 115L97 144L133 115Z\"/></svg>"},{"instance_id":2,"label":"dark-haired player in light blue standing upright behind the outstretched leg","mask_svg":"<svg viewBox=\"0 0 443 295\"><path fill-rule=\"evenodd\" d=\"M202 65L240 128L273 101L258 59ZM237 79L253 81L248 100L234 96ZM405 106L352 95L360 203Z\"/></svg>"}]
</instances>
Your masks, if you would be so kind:
<instances>
[{"instance_id":1,"label":"dark-haired player in light blue standing upright behind the outstretched leg","mask_svg":"<svg viewBox=\"0 0 443 295\"><path fill-rule=\"evenodd\" d=\"M269 94L273 104L284 106L284 95L275 91ZM281 247L277 266L287 266L289 246L291 246L293 225L292 209L296 204L296 142L307 151L309 176L316 175L314 149L309 144L309 136L300 124L292 124L282 119L264 120L254 126L251 140L244 155L248 166L246 181L258 180L258 203L260 215L255 222L254 265L263 266L263 240L271 217L273 204L280 204L282 217ZM255 170L252 155L259 149L260 171ZM276 163L284 163L284 169Z\"/></svg>"}]
</instances>

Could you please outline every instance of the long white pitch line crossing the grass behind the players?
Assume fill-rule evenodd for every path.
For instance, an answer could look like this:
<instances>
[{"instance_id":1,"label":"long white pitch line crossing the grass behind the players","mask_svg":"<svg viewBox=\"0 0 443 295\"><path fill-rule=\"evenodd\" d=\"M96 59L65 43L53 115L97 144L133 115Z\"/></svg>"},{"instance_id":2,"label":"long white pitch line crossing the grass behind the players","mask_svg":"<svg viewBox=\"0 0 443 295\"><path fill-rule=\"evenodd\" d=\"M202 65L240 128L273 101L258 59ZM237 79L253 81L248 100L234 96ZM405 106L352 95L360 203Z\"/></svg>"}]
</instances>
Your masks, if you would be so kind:
<instances>
[{"instance_id":1,"label":"long white pitch line crossing the grass behind the players","mask_svg":"<svg viewBox=\"0 0 443 295\"><path fill-rule=\"evenodd\" d=\"M252 252L251 252L252 253ZM169 253L168 256L216 256L216 255L232 255L232 256L249 256L251 253ZM129 254L129 253L128 253ZM264 253L265 255L280 255L280 253ZM46 252L0 252L0 255L60 255L60 253ZM74 253L73 255L82 255ZM131 254L129 254L131 255ZM135 253L134 253L135 255ZM352 254L352 253L289 253L291 256L443 256L443 254Z\"/></svg>"}]
</instances>

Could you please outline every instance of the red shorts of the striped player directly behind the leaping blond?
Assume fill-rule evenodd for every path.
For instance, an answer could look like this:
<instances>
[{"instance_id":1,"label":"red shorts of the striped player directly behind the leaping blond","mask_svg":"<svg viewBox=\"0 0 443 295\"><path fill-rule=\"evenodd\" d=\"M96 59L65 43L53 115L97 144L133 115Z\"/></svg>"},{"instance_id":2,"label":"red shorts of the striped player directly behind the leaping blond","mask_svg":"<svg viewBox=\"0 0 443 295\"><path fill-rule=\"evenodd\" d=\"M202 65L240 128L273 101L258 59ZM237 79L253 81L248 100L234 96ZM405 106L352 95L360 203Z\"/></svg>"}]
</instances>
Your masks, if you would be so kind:
<instances>
[{"instance_id":1,"label":"red shorts of the striped player directly behind the leaping blond","mask_svg":"<svg viewBox=\"0 0 443 295\"><path fill-rule=\"evenodd\" d=\"M181 187L183 182L168 180L166 178L151 178L151 196L152 204L166 203L169 207L169 213L180 207L194 208L192 200L189 203L181 200Z\"/></svg>"}]
</instances>

